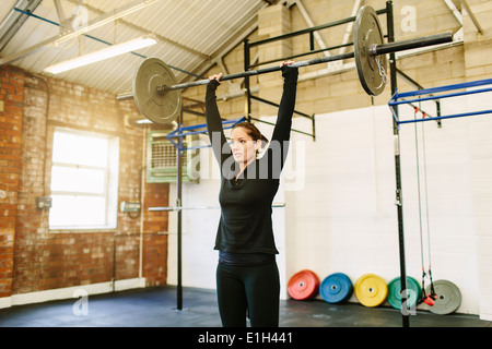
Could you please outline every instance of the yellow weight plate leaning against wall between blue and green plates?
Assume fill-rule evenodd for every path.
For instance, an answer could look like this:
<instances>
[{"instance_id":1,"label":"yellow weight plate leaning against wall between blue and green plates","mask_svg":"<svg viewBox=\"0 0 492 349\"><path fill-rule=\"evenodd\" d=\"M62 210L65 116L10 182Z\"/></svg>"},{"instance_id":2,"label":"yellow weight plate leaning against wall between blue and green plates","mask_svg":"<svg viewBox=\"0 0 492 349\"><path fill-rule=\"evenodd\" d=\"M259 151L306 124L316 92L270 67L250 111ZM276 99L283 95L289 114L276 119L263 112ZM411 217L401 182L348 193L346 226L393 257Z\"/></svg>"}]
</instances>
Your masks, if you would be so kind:
<instances>
[{"instance_id":1,"label":"yellow weight plate leaning against wall between blue and green plates","mask_svg":"<svg viewBox=\"0 0 492 349\"><path fill-rule=\"evenodd\" d=\"M388 286L382 277L374 274L365 274L358 279L353 291L362 305L377 306L388 296Z\"/></svg>"}]
</instances>

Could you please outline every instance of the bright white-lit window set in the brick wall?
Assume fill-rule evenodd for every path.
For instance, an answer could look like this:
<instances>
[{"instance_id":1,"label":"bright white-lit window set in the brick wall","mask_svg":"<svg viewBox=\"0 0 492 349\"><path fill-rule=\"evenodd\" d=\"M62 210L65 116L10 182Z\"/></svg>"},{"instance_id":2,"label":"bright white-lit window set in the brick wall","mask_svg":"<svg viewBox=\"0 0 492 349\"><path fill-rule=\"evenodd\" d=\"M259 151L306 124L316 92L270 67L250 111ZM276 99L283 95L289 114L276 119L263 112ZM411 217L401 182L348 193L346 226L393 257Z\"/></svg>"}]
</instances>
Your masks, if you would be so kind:
<instances>
[{"instance_id":1,"label":"bright white-lit window set in the brick wall","mask_svg":"<svg viewBox=\"0 0 492 349\"><path fill-rule=\"evenodd\" d=\"M50 229L116 228L119 140L55 130Z\"/></svg>"}]
</instances>

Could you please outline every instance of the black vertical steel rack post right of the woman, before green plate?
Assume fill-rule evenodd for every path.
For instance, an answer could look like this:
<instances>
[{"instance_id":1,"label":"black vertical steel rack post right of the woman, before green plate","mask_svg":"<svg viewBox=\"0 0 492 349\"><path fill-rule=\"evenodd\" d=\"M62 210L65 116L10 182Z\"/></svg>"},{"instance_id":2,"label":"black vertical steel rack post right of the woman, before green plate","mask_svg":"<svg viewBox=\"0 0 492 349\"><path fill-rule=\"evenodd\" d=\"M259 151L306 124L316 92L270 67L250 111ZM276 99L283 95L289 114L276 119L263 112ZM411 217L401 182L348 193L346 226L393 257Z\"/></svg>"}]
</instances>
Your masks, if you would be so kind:
<instances>
[{"instance_id":1,"label":"black vertical steel rack post right of the woman, before green plate","mask_svg":"<svg viewBox=\"0 0 492 349\"><path fill-rule=\"evenodd\" d=\"M395 41L395 23L393 16L393 1L386 2L386 22L388 27L388 43ZM396 69L396 57L395 52L389 53L389 70L390 70L390 82L391 82L391 96L397 92L397 69ZM396 108L398 106L391 106L395 108L395 112L398 112ZM403 309L408 303L408 292L407 292L407 270L405 265L405 234L403 234L403 201L401 193L401 163L400 163L400 135L399 125L393 118L393 134L395 141L395 174L396 174L396 201L398 214L398 241L399 241L399 253L400 253L400 287L401 287L401 315L403 327L410 326L410 314L408 309Z\"/></svg>"}]
</instances>

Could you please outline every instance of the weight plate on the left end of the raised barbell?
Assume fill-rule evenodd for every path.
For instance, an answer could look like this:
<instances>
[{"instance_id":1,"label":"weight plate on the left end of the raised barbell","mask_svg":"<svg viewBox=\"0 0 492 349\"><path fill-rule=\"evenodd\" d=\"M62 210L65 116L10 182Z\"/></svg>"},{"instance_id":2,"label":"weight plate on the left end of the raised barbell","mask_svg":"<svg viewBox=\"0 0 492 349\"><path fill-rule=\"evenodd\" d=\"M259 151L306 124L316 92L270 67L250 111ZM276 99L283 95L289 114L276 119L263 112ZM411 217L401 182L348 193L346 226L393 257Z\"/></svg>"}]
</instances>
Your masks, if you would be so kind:
<instances>
[{"instance_id":1,"label":"weight plate on the left end of the raised barbell","mask_svg":"<svg viewBox=\"0 0 492 349\"><path fill-rule=\"evenodd\" d=\"M145 59L133 77L133 99L137 108L155 123L173 122L181 112L181 93L160 93L157 86L175 84L176 77L166 63L157 58Z\"/></svg>"}]
</instances>

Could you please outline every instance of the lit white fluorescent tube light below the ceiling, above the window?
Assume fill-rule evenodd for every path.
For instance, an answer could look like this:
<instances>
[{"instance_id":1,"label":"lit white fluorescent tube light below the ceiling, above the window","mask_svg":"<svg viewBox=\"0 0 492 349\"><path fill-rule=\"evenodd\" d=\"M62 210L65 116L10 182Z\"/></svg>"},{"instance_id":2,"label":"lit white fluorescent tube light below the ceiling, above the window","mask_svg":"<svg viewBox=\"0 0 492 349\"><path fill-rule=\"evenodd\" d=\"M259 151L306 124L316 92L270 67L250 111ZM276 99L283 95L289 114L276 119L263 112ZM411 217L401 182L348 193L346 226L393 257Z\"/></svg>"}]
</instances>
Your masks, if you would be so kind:
<instances>
[{"instance_id":1,"label":"lit white fluorescent tube light below the ceiling, above the window","mask_svg":"<svg viewBox=\"0 0 492 349\"><path fill-rule=\"evenodd\" d=\"M102 61L104 59L108 59L115 56L119 56L126 52L130 52L133 50L138 50L143 47L148 47L151 45L155 45L157 41L152 36L140 37L130 41L126 41L118 45L113 45L102 50L91 52L84 56L80 56L68 61L57 63L54 65L49 65L45 68L45 72L51 74L58 74L71 69L75 69L82 65L87 65L94 62Z\"/></svg>"}]
</instances>

